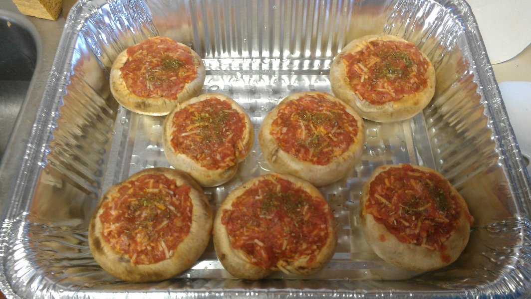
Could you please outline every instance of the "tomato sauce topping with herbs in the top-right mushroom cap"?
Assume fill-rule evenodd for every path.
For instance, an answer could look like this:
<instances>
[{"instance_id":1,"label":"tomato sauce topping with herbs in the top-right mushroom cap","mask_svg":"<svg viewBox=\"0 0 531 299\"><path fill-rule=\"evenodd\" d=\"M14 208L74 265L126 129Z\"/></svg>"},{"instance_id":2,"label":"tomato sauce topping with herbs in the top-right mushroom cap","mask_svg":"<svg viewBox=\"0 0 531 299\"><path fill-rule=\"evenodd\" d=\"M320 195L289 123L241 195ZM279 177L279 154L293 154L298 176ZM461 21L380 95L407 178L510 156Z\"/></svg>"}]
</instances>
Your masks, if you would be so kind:
<instances>
[{"instance_id":1,"label":"tomato sauce topping with herbs in the top-right mushroom cap","mask_svg":"<svg viewBox=\"0 0 531 299\"><path fill-rule=\"evenodd\" d=\"M427 86L430 62L410 42L373 40L343 61L354 92L374 105L398 101Z\"/></svg>"}]
</instances>

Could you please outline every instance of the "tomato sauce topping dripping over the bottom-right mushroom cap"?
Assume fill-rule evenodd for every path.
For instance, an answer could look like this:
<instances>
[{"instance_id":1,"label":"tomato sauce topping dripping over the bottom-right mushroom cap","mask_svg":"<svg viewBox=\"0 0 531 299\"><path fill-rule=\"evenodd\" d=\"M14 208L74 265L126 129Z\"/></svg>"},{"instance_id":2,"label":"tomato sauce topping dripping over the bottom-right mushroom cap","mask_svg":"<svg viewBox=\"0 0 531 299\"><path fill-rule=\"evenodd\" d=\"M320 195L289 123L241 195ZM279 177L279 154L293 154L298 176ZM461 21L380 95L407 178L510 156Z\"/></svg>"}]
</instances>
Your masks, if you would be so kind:
<instances>
[{"instance_id":1,"label":"tomato sauce topping dripping over the bottom-right mushroom cap","mask_svg":"<svg viewBox=\"0 0 531 299\"><path fill-rule=\"evenodd\" d=\"M461 213L473 222L462 209L446 179L404 164L376 175L363 213L373 215L402 243L444 251Z\"/></svg>"}]
</instances>

